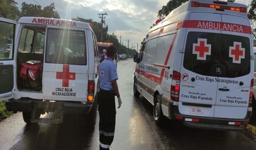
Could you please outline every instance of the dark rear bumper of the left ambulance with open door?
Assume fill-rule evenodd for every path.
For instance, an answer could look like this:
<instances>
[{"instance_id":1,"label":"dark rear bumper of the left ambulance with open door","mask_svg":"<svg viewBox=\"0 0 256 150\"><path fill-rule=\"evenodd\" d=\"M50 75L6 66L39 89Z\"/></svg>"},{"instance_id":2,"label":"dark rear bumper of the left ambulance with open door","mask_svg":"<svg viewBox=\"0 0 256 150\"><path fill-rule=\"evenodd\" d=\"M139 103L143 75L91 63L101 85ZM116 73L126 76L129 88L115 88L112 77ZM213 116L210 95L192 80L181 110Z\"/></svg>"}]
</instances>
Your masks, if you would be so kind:
<instances>
[{"instance_id":1,"label":"dark rear bumper of the left ambulance with open door","mask_svg":"<svg viewBox=\"0 0 256 150\"><path fill-rule=\"evenodd\" d=\"M54 109L63 110L65 114L88 114L93 103L83 104L79 101L38 101L30 99L7 100L6 109L13 112L31 112L33 108L52 112Z\"/></svg>"}]
</instances>

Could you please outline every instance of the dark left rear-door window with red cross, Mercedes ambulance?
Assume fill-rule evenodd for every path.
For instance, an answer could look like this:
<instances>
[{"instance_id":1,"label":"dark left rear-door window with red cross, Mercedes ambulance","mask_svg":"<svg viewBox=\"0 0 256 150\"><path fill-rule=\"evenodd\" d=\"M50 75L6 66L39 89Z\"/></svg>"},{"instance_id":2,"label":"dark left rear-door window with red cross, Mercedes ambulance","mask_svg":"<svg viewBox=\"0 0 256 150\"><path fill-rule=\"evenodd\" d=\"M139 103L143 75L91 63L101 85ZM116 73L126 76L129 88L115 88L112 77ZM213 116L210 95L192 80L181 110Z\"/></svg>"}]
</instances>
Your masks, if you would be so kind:
<instances>
[{"instance_id":1,"label":"dark left rear-door window with red cross, Mercedes ambulance","mask_svg":"<svg viewBox=\"0 0 256 150\"><path fill-rule=\"evenodd\" d=\"M184 68L212 76L212 66L220 59L220 34L189 32L184 53Z\"/></svg>"}]
</instances>

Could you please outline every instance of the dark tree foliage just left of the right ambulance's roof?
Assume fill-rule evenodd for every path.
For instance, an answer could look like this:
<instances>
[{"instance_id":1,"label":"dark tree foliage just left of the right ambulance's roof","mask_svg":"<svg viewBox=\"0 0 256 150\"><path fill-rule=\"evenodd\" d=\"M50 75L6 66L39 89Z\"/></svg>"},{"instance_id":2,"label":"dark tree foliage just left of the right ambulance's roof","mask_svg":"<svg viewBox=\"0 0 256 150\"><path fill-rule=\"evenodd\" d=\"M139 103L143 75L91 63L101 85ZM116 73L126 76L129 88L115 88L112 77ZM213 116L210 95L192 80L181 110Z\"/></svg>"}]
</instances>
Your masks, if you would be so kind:
<instances>
[{"instance_id":1,"label":"dark tree foliage just left of the right ambulance's roof","mask_svg":"<svg viewBox=\"0 0 256 150\"><path fill-rule=\"evenodd\" d=\"M171 0L166 6L163 6L161 10L158 11L157 17L159 19L164 19L172 10L179 7L181 4L187 2L188 0Z\"/></svg>"}]
</instances>

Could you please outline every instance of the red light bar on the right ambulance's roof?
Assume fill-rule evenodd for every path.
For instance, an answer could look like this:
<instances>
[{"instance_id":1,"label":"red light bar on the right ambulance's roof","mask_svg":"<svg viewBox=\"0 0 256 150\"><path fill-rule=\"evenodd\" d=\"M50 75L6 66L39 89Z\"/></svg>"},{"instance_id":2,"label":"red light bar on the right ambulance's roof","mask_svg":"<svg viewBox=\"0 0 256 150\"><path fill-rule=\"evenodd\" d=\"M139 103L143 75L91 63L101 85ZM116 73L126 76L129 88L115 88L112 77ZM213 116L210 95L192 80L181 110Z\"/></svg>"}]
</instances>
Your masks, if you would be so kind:
<instances>
[{"instance_id":1,"label":"red light bar on the right ambulance's roof","mask_svg":"<svg viewBox=\"0 0 256 150\"><path fill-rule=\"evenodd\" d=\"M206 3L199 3L196 1L191 2L192 7L205 7L205 8L216 8L218 10L231 10L231 11L240 11L241 13L247 13L246 7L233 7L233 6L223 6L219 4L228 4L227 2L223 1L214 1L214 4L206 4Z\"/></svg>"}]
</instances>

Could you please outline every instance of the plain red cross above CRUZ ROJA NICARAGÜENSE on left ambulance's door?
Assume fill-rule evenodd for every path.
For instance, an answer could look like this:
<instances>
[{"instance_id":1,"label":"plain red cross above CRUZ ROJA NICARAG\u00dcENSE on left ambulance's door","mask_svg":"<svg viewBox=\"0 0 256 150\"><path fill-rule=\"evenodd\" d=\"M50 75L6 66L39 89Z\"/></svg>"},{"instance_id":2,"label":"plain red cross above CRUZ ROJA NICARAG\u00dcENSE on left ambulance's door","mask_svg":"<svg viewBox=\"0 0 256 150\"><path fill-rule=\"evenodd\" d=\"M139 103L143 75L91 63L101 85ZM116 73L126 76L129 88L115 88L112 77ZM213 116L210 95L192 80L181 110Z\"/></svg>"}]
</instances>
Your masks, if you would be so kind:
<instances>
[{"instance_id":1,"label":"plain red cross above CRUZ ROJA NICARAG\u00dcENSE on left ambulance's door","mask_svg":"<svg viewBox=\"0 0 256 150\"><path fill-rule=\"evenodd\" d=\"M57 71L56 79L62 79L62 87L68 87L69 80L76 80L76 73L69 72L69 65L63 64L63 72Z\"/></svg>"}]
</instances>

